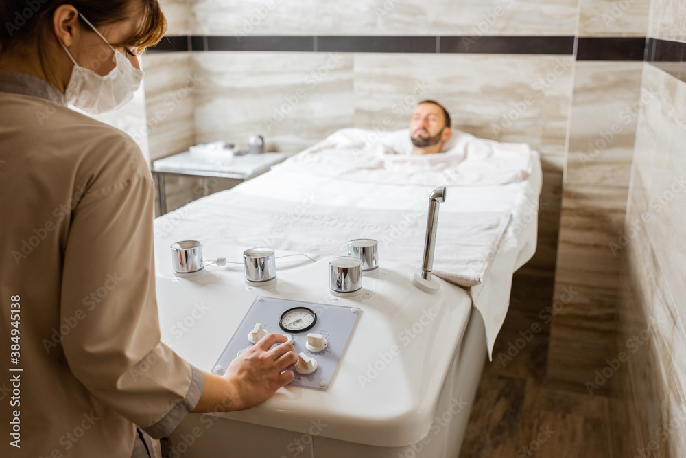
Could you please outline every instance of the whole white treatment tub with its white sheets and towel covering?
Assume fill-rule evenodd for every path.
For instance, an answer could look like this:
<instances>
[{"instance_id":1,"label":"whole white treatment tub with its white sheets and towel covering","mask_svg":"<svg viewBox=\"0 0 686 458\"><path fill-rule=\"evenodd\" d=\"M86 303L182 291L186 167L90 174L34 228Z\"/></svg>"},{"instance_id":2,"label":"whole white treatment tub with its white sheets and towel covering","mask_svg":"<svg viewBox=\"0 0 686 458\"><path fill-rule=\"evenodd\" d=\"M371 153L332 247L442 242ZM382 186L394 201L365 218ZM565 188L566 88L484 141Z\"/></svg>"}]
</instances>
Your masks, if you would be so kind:
<instances>
[{"instance_id":1,"label":"whole white treatment tub with its white sheets and towel covering","mask_svg":"<svg viewBox=\"0 0 686 458\"><path fill-rule=\"evenodd\" d=\"M446 154L417 158L402 154L407 130L341 130L156 219L163 341L197 367L217 369L261 302L314 304L322 323L336 307L359 315L347 341L332 339L340 360L321 389L287 385L248 411L189 414L167 442L171 456L458 456L512 273L536 249L541 165L523 145L453 137ZM436 186L447 197L434 259L440 288L430 294L412 277ZM362 294L339 297L329 290L329 260L346 255L353 238L378 240L379 271L362 278ZM177 275L170 246L181 240L202 242L205 260L227 264ZM276 284L244 281L243 253L253 247L276 251Z\"/></svg>"}]
</instances>

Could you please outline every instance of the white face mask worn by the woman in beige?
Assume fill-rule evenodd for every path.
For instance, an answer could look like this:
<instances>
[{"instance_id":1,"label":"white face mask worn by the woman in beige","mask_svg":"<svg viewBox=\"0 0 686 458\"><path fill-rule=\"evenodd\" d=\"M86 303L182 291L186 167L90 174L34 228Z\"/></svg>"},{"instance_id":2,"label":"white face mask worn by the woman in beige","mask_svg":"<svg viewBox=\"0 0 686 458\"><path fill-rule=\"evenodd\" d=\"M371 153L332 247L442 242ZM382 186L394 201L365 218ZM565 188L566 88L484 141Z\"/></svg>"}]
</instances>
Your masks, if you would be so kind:
<instances>
[{"instance_id":1,"label":"white face mask worn by the woman in beige","mask_svg":"<svg viewBox=\"0 0 686 458\"><path fill-rule=\"evenodd\" d=\"M67 51L69 58L74 62L69 85L64 93L67 103L92 115L117 110L133 99L134 92L141 87L145 72L134 67L126 56L113 48L83 14L79 13L79 16L114 51L113 62L116 66L106 76L99 76L91 69L80 67L69 49L62 44L64 51Z\"/></svg>"}]
</instances>

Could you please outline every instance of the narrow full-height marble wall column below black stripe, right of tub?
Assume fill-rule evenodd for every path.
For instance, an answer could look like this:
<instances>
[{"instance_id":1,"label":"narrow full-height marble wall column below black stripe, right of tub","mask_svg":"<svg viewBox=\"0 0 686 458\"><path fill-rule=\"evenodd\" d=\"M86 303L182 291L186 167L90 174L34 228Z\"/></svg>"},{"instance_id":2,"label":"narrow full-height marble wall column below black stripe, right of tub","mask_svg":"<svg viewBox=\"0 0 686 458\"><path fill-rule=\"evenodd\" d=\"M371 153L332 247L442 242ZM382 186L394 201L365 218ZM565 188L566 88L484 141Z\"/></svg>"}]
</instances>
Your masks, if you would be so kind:
<instances>
[{"instance_id":1,"label":"narrow full-height marble wall column below black stripe, right of tub","mask_svg":"<svg viewBox=\"0 0 686 458\"><path fill-rule=\"evenodd\" d=\"M615 354L622 236L643 62L577 62L569 123L549 380L579 391ZM598 391L608 393L610 385Z\"/></svg>"}]
</instances>

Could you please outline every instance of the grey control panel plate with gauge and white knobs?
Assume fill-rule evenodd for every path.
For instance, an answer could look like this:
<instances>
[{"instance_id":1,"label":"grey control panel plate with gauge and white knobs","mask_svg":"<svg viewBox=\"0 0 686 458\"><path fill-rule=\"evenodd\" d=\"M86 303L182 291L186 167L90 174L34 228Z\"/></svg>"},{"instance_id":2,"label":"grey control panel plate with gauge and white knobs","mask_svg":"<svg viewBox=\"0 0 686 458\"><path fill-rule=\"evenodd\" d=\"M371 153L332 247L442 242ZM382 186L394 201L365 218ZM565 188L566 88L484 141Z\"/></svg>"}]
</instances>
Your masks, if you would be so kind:
<instances>
[{"instance_id":1,"label":"grey control panel plate with gauge and white knobs","mask_svg":"<svg viewBox=\"0 0 686 458\"><path fill-rule=\"evenodd\" d=\"M283 312L295 307L307 307L313 310L317 314L317 321L312 328L305 332L287 333L279 327L279 318ZM296 354L305 353L310 358L317 360L318 368L312 374L298 374L294 368L289 369L295 374L290 385L326 390L335 376L335 371L338 369L338 364L348 345L360 312L362 310L359 307L332 306L276 297L257 297L252 302L252 306L250 306L235 334L228 341L212 372L224 374L228 365L238 356L239 352L252 346L252 343L248 341L248 334L255 328L256 323L261 323L268 333L275 332L292 336ZM309 333L321 334L327 339L329 345L322 352L310 352L305 347Z\"/></svg>"}]
</instances>

